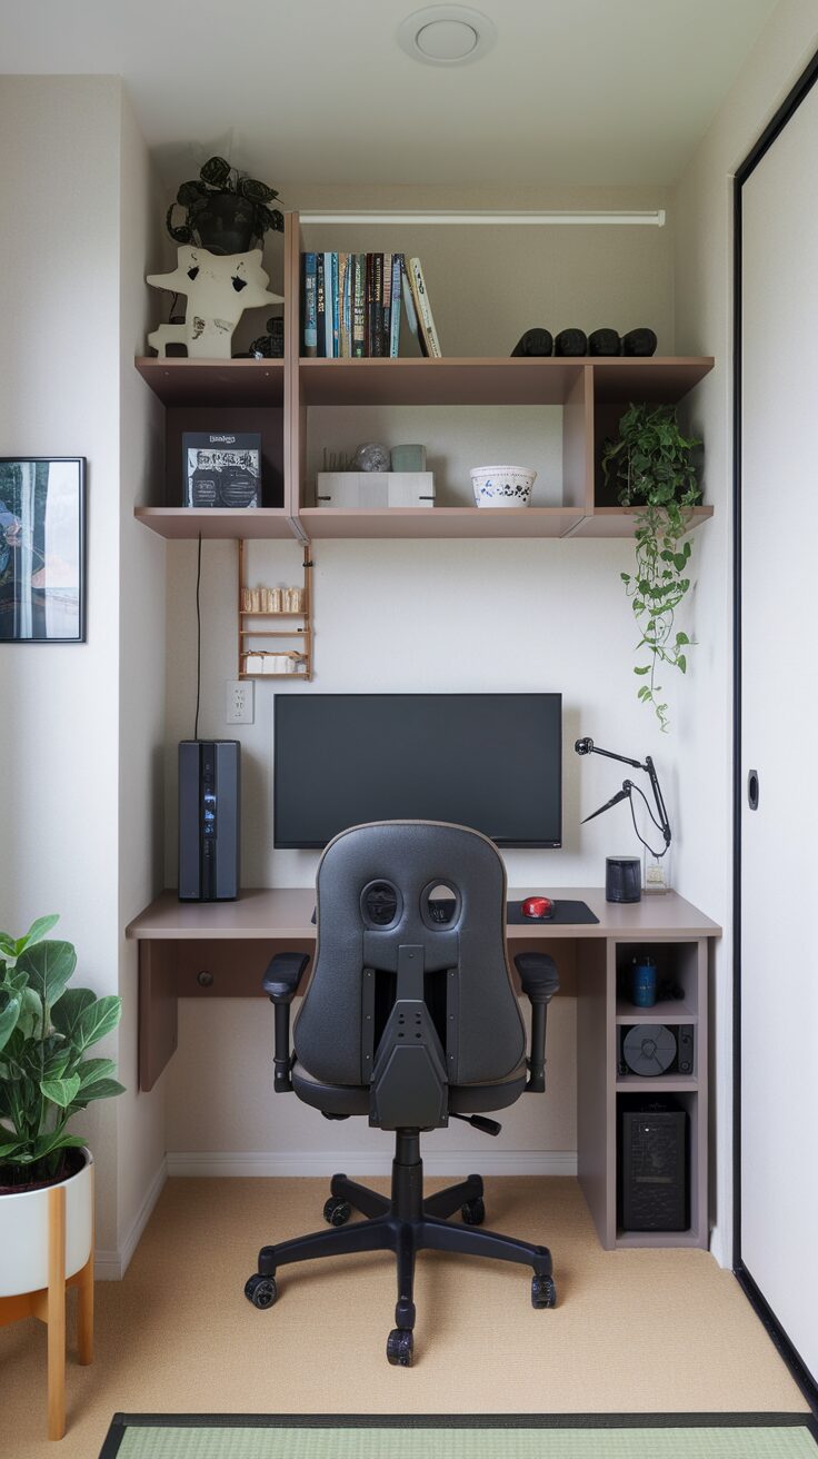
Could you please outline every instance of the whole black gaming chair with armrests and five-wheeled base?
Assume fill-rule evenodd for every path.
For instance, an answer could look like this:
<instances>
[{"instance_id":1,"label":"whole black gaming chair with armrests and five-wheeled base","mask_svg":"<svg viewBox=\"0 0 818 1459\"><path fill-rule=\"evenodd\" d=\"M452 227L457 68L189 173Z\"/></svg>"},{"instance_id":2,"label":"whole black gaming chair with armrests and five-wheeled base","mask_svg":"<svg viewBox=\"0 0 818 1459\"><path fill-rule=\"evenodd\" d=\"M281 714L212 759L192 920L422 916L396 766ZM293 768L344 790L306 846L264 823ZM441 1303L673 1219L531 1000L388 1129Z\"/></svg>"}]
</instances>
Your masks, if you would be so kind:
<instances>
[{"instance_id":1,"label":"whole black gaming chair with armrests and five-wheeled base","mask_svg":"<svg viewBox=\"0 0 818 1459\"><path fill-rule=\"evenodd\" d=\"M424 1247L532 1266L534 1306L556 1303L547 1246L477 1228L484 1217L480 1176L423 1198L420 1131L455 1118L496 1135L500 1126L475 1112L513 1104L523 1090L542 1093L557 970L540 953L515 959L532 1004L526 1061L506 960L505 867L494 843L464 826L354 826L327 846L316 890L318 947L295 1024L295 1055L289 1005L309 959L278 953L264 976L276 1005L274 1087L295 1090L328 1119L365 1115L370 1125L394 1129L392 1193L332 1176L324 1207L331 1230L262 1246L245 1293L255 1307L270 1307L286 1262L392 1250L398 1304L386 1357L410 1367L414 1259ZM366 1220L346 1226L353 1207ZM458 1210L465 1224L451 1226Z\"/></svg>"}]
</instances>

